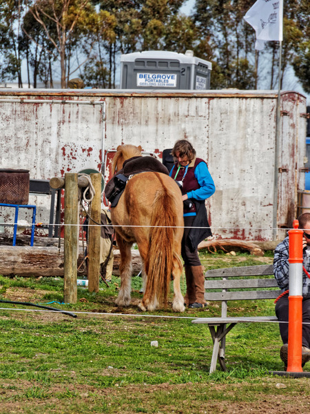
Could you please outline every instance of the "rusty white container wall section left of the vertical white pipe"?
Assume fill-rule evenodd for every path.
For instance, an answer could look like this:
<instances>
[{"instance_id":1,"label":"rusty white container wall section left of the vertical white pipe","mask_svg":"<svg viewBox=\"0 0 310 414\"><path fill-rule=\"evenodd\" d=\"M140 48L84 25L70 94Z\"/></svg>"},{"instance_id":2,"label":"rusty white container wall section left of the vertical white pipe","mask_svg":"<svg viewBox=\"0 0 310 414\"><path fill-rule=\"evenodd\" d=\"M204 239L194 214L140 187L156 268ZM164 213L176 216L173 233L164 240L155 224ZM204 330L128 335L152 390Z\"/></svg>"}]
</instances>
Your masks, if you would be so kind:
<instances>
[{"instance_id":1,"label":"rusty white container wall section left of the vertical white pipe","mask_svg":"<svg viewBox=\"0 0 310 414\"><path fill-rule=\"evenodd\" d=\"M64 100L59 95L40 92L22 98L23 103L18 92L0 94L1 168L26 168L30 179L63 177L85 168L101 170L103 106L60 103ZM37 222L48 224L50 196L30 195L29 203L37 205ZM30 213L21 211L19 219L30 221ZM8 209L1 217L12 222Z\"/></svg>"}]
</instances>

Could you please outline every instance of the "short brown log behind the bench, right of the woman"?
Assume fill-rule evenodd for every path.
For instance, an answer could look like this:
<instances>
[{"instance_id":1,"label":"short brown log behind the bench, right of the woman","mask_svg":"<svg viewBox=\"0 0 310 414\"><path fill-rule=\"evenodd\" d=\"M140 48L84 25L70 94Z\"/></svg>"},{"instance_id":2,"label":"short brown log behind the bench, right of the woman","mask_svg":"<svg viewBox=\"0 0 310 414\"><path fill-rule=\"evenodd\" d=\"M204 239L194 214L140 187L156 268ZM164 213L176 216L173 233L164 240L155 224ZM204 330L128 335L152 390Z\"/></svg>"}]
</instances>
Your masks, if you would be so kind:
<instances>
[{"instance_id":1,"label":"short brown log behind the bench, right of the woman","mask_svg":"<svg viewBox=\"0 0 310 414\"><path fill-rule=\"evenodd\" d=\"M254 242L247 242L246 240L235 239L220 239L220 240L203 240L198 244L198 250L207 248L210 252L216 253L217 248L225 252L231 250L248 250L251 255L263 256L264 250Z\"/></svg>"}]
</instances>

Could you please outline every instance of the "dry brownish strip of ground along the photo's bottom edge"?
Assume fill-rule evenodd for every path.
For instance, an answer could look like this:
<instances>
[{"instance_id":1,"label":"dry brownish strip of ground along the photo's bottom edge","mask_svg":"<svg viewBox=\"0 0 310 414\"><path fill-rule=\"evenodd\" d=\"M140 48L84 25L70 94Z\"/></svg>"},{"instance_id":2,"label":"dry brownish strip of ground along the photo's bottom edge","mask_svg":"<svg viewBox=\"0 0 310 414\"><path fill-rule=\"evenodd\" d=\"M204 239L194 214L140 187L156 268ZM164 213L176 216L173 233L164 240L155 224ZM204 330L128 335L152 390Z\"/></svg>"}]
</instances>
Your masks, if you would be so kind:
<instances>
[{"instance_id":1,"label":"dry brownish strip of ground along the photo's bottom edge","mask_svg":"<svg viewBox=\"0 0 310 414\"><path fill-rule=\"evenodd\" d=\"M72 378L75 376L72 371ZM296 380L293 380L296 381ZM300 379L301 388L307 386L304 383L307 379ZM303 384L303 385L302 385ZM194 386L192 383L187 384L169 384L163 383L159 385L139 385L139 386L125 386L121 387L115 384L110 388L94 388L87 384L57 384L51 386L45 393L44 398L25 398L23 402L16 402L14 399L19 395L29 393L29 390L35 384L28 381L6 382L2 384L1 389L1 412L3 413L54 413L56 411L48 411L45 406L54 406L55 408L61 404L60 409L63 409L65 400L63 395L70 395L70 404L76 402L83 402L89 405L90 411L93 414L103 413L105 411L99 410L98 406L94 404L94 395L96 400L102 399L109 407L110 413L136 414L137 412L156 412L158 414L306 414L310 410L309 395L300 393L298 395L287 395L287 384L279 382L276 378L266 379L262 386L269 389L269 393L251 393L251 384L203 384ZM238 393L238 388L248 388L249 397L246 402L234 401L234 393ZM275 392L270 393L274 388ZM178 400L177 396L183 391L187 391L187 398L185 400ZM214 400L212 397L214 390L220 395L223 395L221 400ZM253 398L251 398L253 394ZM165 396L165 397L162 397ZM167 396L168 402L167 402ZM131 402L136 398L141 401L141 406L144 409L134 410ZM236 397L237 399L238 397ZM161 399L163 400L162 402ZM152 411L152 401L156 401L156 406L159 405L158 411ZM159 404L158 404L159 401ZM31 407L37 406L39 411L31 411ZM40 408L41 407L41 408ZM146 411L149 408L149 411ZM30 411L29 411L30 410ZM59 411L60 412L60 411ZM65 411L61 411L65 412ZM72 411L70 411L72 412Z\"/></svg>"}]
</instances>

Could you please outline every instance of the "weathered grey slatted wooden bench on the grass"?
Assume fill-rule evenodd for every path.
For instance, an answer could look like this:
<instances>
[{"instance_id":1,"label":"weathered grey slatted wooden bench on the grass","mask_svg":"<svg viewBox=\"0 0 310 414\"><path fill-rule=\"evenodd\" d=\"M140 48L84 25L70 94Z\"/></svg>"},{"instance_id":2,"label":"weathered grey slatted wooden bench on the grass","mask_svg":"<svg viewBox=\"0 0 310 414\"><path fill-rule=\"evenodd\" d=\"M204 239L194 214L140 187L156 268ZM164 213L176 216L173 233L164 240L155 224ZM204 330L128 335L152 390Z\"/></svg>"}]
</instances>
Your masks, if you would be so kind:
<instances>
[{"instance_id":1,"label":"weathered grey slatted wooden bench on the grass","mask_svg":"<svg viewBox=\"0 0 310 414\"><path fill-rule=\"evenodd\" d=\"M225 337L238 323L249 322L276 322L273 316L229 317L227 316L227 301L229 300L257 300L276 299L280 289L274 277L261 278L273 275L273 266L245 266L236 268L222 268L208 270L205 273L205 299L207 301L222 302L220 317L201 317L194 319L193 324L208 324L214 342L211 358L210 373L216 371L216 361L220 368L226 371L225 365ZM271 288L276 288L271 289Z\"/></svg>"}]
</instances>

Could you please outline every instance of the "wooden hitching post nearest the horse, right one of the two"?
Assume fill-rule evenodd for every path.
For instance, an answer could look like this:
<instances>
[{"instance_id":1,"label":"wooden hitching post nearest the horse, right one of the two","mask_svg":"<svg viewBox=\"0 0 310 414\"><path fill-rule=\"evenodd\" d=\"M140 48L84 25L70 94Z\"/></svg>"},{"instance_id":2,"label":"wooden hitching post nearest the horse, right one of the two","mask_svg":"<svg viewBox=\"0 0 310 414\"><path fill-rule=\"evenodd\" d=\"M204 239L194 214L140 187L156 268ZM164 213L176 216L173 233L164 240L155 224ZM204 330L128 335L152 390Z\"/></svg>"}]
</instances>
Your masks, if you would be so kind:
<instances>
[{"instance_id":1,"label":"wooden hitching post nearest the horse, right one of the two","mask_svg":"<svg viewBox=\"0 0 310 414\"><path fill-rule=\"evenodd\" d=\"M90 292L99 292L100 278L100 233L101 228L97 223L101 223L101 174L90 174L95 195L92 199L92 209L88 223L89 239L88 239L88 290Z\"/></svg>"}]
</instances>

